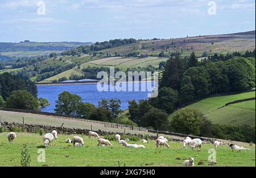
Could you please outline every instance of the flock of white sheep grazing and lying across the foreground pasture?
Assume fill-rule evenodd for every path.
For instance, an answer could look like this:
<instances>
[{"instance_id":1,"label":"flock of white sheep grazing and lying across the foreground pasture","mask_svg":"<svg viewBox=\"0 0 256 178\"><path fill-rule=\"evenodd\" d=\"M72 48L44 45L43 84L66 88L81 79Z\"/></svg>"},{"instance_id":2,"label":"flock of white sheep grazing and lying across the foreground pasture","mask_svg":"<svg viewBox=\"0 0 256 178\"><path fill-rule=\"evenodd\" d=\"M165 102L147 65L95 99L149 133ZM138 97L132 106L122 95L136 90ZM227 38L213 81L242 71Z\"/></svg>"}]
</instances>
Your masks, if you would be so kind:
<instances>
[{"instance_id":1,"label":"flock of white sheep grazing and lying across the foreground pasture","mask_svg":"<svg viewBox=\"0 0 256 178\"><path fill-rule=\"evenodd\" d=\"M110 141L108 139L103 139L100 138L100 136L96 133L96 132L89 132L89 138L94 137L94 138L98 138L98 145L97 146L112 146L112 143L110 143ZM7 139L8 141L11 143L14 141L14 139L16 138L16 134L14 132L10 132L7 135ZM47 133L44 135L43 137L43 143L44 143L44 147L48 147L48 146L52 146L52 142L54 139L57 139L57 132L56 130L53 130L52 133ZM121 139L121 135L116 134L115 135L115 140L121 144L122 146L125 147L131 147L131 148L146 148L144 145L137 145L137 143L133 143L133 144L129 144L127 142L129 142L129 139L126 138L125 140ZM142 143L148 143L148 141L146 141L146 139L142 139L141 140ZM72 143L73 146L84 146L84 139L82 139L79 136L75 136L71 139L66 139L65 143ZM187 147L190 147L192 150L193 149L201 149L201 145L202 145L202 141L199 138L195 138L195 139L191 139L190 137L186 137L183 140L183 148L186 149ZM160 148L162 146L166 146L167 148L170 148L170 145L168 145L168 139L164 138L163 136L158 137L158 139L156 139L155 141L155 145L156 148L158 148L160 146ZM213 145L215 147L215 149L218 148L219 145L227 145L224 142L219 142L219 141L214 141ZM242 146L238 146L238 145L234 145L234 144L230 144L229 145L230 149L232 150L250 150L250 149L246 149ZM195 166L194 163L194 158L189 158L189 160L185 160L185 162L183 163L183 166Z\"/></svg>"}]
</instances>

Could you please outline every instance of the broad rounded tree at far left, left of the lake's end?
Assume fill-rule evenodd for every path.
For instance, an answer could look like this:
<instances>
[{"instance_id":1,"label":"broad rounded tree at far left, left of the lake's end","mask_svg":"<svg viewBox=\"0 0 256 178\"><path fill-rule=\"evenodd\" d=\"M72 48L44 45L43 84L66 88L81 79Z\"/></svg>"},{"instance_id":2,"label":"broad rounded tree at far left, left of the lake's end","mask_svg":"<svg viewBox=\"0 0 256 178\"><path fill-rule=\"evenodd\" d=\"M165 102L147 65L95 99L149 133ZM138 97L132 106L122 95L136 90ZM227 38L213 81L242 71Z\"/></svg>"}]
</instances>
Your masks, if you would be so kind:
<instances>
[{"instance_id":1,"label":"broad rounded tree at far left, left of the lake's end","mask_svg":"<svg viewBox=\"0 0 256 178\"><path fill-rule=\"evenodd\" d=\"M14 109L38 110L39 102L30 92L18 90L11 92L6 99L6 107Z\"/></svg>"}]
</instances>

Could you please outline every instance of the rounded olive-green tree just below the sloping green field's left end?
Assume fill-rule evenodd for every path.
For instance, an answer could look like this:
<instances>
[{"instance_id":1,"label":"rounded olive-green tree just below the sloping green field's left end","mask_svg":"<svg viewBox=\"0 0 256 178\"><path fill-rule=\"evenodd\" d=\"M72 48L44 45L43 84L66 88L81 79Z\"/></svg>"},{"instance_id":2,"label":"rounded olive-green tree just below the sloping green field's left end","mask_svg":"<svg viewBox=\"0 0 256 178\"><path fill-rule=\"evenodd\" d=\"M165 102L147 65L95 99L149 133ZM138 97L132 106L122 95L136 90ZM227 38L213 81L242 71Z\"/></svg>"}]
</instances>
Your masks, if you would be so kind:
<instances>
[{"instance_id":1,"label":"rounded olive-green tree just below the sloping green field's left end","mask_svg":"<svg viewBox=\"0 0 256 178\"><path fill-rule=\"evenodd\" d=\"M205 119L196 109L182 108L174 113L170 126L173 132L199 136Z\"/></svg>"}]
</instances>

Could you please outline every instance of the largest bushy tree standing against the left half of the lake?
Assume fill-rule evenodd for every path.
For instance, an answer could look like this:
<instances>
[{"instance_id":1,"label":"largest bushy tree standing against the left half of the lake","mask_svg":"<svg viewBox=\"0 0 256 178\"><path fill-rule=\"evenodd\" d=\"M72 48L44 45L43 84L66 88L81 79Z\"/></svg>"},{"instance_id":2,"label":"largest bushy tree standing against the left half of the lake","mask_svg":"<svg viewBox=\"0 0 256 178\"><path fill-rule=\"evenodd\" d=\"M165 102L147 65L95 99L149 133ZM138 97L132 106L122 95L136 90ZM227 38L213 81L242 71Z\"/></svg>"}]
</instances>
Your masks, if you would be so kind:
<instances>
[{"instance_id":1,"label":"largest bushy tree standing against the left half of the lake","mask_svg":"<svg viewBox=\"0 0 256 178\"><path fill-rule=\"evenodd\" d=\"M79 106L81 103L82 101L80 96L64 91L59 94L55 105L55 112L60 115L78 116Z\"/></svg>"}]
</instances>

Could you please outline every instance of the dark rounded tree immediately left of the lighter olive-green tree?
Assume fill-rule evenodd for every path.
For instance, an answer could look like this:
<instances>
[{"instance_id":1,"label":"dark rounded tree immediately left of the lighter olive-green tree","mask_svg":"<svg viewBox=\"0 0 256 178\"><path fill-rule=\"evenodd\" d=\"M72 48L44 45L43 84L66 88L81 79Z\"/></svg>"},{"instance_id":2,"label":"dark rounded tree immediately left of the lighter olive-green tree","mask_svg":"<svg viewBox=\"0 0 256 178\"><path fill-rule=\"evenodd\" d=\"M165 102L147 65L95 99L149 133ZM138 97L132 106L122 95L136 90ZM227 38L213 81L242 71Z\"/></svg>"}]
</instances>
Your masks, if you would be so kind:
<instances>
[{"instance_id":1,"label":"dark rounded tree immediately left of the lighter olive-green tree","mask_svg":"<svg viewBox=\"0 0 256 178\"><path fill-rule=\"evenodd\" d=\"M145 127L151 126L155 130L166 130L168 128L168 115L160 109L151 108L141 118L140 124Z\"/></svg>"}]
</instances>

